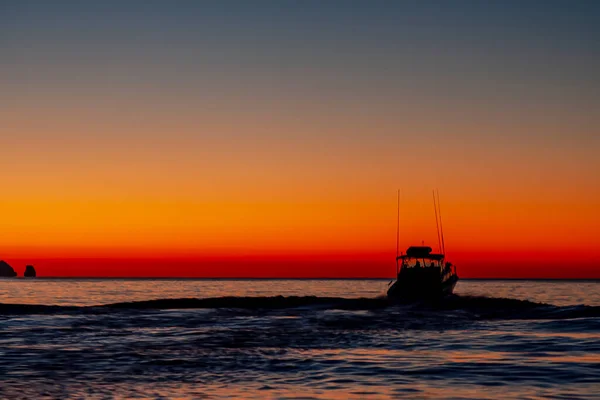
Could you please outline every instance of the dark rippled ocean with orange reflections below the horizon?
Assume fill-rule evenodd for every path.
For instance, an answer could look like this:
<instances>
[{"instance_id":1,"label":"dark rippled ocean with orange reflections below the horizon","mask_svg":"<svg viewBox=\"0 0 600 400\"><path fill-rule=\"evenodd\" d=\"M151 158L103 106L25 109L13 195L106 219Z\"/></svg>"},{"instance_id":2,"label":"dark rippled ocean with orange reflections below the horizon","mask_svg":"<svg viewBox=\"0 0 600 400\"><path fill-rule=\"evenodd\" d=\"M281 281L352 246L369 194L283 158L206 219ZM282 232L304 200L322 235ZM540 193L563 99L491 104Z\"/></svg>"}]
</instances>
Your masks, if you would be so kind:
<instances>
[{"instance_id":1,"label":"dark rippled ocean with orange reflections below the horizon","mask_svg":"<svg viewBox=\"0 0 600 400\"><path fill-rule=\"evenodd\" d=\"M0 398L600 399L600 282L0 280Z\"/></svg>"}]
</instances>

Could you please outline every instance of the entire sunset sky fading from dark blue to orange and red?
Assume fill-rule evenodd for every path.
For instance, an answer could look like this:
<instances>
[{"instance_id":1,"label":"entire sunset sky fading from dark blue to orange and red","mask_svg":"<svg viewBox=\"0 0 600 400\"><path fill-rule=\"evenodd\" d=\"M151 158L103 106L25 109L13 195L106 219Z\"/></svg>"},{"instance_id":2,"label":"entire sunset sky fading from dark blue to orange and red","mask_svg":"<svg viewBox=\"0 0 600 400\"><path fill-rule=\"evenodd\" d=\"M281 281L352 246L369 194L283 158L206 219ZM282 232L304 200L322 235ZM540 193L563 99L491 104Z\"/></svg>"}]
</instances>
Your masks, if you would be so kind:
<instances>
[{"instance_id":1,"label":"entire sunset sky fading from dark blue to orange and red","mask_svg":"<svg viewBox=\"0 0 600 400\"><path fill-rule=\"evenodd\" d=\"M596 1L0 0L0 259L600 278Z\"/></svg>"}]
</instances>

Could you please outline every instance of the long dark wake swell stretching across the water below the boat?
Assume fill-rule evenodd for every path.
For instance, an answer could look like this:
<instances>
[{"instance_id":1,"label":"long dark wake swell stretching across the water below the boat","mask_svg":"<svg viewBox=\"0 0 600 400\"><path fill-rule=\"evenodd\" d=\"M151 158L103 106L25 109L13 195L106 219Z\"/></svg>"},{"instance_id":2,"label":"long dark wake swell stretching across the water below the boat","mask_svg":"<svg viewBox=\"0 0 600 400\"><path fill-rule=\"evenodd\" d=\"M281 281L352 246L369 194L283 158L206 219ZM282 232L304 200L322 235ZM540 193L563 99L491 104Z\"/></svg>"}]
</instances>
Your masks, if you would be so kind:
<instances>
[{"instance_id":1,"label":"long dark wake swell stretching across the water below the boat","mask_svg":"<svg viewBox=\"0 0 600 400\"><path fill-rule=\"evenodd\" d=\"M435 301L392 302L386 297L341 298L317 296L175 298L112 303L98 306L0 304L0 315L56 313L114 313L141 310L216 309L269 312L277 310L389 311L394 315L443 314L466 319L574 319L600 317L600 306L559 307L528 300L453 295Z\"/></svg>"}]
</instances>

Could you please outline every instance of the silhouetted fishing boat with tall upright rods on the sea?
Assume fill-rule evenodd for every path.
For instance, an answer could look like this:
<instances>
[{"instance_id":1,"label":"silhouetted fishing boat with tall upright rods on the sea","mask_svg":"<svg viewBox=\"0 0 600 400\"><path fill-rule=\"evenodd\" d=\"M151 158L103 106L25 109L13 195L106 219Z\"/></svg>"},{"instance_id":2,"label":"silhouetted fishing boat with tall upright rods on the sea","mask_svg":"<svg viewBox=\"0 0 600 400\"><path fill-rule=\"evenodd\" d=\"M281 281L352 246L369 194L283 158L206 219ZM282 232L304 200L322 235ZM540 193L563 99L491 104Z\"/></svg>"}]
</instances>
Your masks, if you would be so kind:
<instances>
[{"instance_id":1,"label":"silhouetted fishing boat with tall upright rods on the sea","mask_svg":"<svg viewBox=\"0 0 600 400\"><path fill-rule=\"evenodd\" d=\"M410 246L398 254L400 235L400 192L398 192L398 229L396 234L396 281L387 291L392 300L436 299L451 295L458 282L456 266L446 261L439 194L433 195L435 221L440 251L433 253L429 246Z\"/></svg>"}]
</instances>

